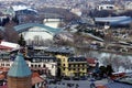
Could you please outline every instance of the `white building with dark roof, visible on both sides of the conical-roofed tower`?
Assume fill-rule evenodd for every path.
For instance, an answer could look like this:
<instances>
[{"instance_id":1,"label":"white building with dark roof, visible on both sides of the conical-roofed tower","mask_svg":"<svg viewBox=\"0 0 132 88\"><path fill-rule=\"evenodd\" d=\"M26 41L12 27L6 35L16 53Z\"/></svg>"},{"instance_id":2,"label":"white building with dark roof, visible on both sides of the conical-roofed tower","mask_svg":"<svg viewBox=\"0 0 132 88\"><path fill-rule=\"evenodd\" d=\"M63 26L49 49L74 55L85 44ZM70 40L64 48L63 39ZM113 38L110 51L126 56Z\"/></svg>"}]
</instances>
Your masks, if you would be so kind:
<instances>
[{"instance_id":1,"label":"white building with dark roof, visible on both sides of the conical-roofed tower","mask_svg":"<svg viewBox=\"0 0 132 88\"><path fill-rule=\"evenodd\" d=\"M0 54L0 57L1 67L10 68L12 66L13 61L10 59L10 56L8 54ZM57 73L56 57L32 56L31 58L32 58L31 62L26 61L26 64L32 72L38 72L40 75L56 76Z\"/></svg>"}]
</instances>

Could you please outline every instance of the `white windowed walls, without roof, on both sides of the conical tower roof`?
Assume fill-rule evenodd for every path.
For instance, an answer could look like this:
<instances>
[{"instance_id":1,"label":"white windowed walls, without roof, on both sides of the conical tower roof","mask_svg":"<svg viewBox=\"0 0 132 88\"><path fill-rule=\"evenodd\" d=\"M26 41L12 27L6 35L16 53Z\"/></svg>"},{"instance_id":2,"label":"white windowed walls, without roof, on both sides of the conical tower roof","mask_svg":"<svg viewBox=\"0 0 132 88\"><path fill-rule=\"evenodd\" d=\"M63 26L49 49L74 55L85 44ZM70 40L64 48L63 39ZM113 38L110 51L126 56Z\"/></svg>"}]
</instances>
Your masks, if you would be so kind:
<instances>
[{"instance_id":1,"label":"white windowed walls, without roof, on both sides of the conical tower roof","mask_svg":"<svg viewBox=\"0 0 132 88\"><path fill-rule=\"evenodd\" d=\"M45 62L38 62L38 63L32 63L26 61L29 67L31 67L31 69L34 70L42 70L45 73L50 73L52 76L56 76L57 73L57 63L53 62L53 59L44 59ZM12 61L0 61L0 66L1 67L11 67L11 65L13 64ZM48 69L50 72L45 70Z\"/></svg>"}]
</instances>

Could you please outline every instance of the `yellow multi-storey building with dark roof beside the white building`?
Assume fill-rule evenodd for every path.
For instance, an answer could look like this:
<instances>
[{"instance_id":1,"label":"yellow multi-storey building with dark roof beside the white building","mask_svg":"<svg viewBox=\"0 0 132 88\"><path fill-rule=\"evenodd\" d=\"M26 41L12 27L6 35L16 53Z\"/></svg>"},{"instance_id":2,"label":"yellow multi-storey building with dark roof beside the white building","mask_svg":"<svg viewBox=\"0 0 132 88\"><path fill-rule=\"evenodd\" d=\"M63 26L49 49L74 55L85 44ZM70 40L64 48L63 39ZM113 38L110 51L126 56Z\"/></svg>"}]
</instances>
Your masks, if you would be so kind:
<instances>
[{"instance_id":1,"label":"yellow multi-storey building with dark roof beside the white building","mask_svg":"<svg viewBox=\"0 0 132 88\"><path fill-rule=\"evenodd\" d=\"M87 62L85 57L67 57L63 55L56 56L61 64L62 76L86 76Z\"/></svg>"}]
</instances>

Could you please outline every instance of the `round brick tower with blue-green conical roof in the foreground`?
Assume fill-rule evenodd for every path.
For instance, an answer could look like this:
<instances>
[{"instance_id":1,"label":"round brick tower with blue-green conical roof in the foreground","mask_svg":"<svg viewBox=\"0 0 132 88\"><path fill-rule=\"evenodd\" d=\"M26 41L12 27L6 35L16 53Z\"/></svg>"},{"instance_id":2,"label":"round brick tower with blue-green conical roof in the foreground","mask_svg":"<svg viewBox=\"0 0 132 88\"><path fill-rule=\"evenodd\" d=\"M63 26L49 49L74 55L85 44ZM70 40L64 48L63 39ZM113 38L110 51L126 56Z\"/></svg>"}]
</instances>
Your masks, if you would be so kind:
<instances>
[{"instance_id":1,"label":"round brick tower with blue-green conical roof in the foreground","mask_svg":"<svg viewBox=\"0 0 132 88\"><path fill-rule=\"evenodd\" d=\"M22 54L18 54L8 73L8 88L32 88L31 69Z\"/></svg>"}]
</instances>

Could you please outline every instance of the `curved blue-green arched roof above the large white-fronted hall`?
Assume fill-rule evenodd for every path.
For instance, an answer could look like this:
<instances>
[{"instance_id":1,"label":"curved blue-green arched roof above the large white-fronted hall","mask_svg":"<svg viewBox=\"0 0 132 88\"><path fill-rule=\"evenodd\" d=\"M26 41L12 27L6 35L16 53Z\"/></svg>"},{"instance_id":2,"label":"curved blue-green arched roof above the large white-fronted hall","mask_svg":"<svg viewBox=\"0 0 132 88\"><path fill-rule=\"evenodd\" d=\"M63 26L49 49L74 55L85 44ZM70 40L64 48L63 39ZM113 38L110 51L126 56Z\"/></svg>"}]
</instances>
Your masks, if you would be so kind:
<instances>
[{"instance_id":1,"label":"curved blue-green arched roof above the large white-fronted hall","mask_svg":"<svg viewBox=\"0 0 132 88\"><path fill-rule=\"evenodd\" d=\"M61 29L54 29L54 28L51 28L44 24L38 24L38 23L25 23L25 24L15 25L13 28L18 33L21 33L21 32L28 31L30 28L33 28L33 26L43 28L45 32L48 32L52 34L55 34L62 31Z\"/></svg>"}]
</instances>

